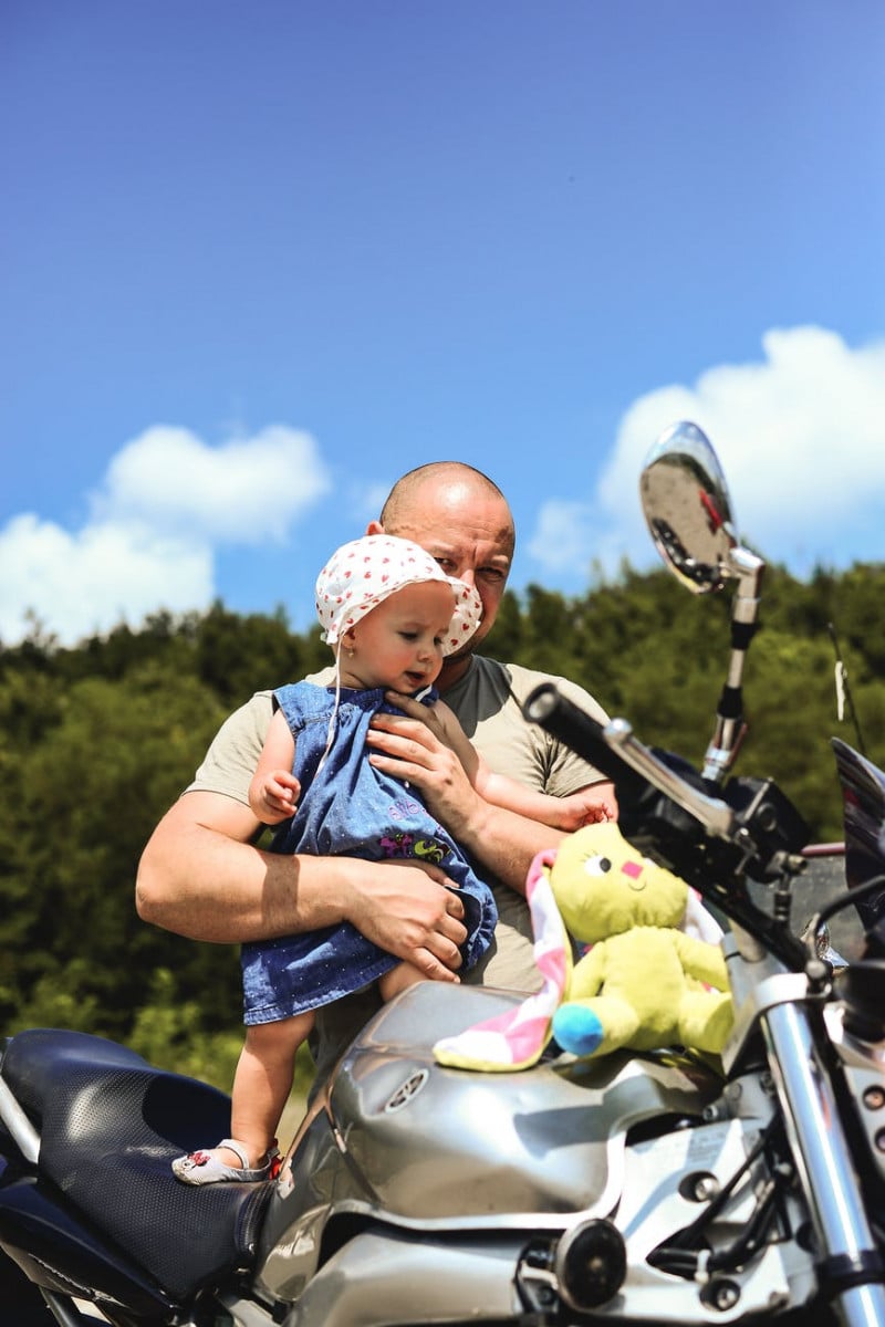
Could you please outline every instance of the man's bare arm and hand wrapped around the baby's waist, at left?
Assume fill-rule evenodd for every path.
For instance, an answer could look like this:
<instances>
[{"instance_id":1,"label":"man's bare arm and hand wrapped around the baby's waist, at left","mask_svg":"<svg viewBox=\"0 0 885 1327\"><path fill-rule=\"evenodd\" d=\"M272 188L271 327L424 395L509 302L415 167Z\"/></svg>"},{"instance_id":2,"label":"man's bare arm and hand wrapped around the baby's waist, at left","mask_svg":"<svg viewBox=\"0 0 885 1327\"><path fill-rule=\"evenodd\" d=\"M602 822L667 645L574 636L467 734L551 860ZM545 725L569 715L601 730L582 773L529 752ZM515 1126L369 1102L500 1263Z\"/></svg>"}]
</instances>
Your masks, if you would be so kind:
<instances>
[{"instance_id":1,"label":"man's bare arm and hand wrapped around the baby's waist, at left","mask_svg":"<svg viewBox=\"0 0 885 1327\"><path fill-rule=\"evenodd\" d=\"M349 921L427 977L454 979L463 905L437 867L285 856L249 840L241 803L184 794L151 835L138 869L143 921L192 940L240 943Z\"/></svg>"}]
</instances>

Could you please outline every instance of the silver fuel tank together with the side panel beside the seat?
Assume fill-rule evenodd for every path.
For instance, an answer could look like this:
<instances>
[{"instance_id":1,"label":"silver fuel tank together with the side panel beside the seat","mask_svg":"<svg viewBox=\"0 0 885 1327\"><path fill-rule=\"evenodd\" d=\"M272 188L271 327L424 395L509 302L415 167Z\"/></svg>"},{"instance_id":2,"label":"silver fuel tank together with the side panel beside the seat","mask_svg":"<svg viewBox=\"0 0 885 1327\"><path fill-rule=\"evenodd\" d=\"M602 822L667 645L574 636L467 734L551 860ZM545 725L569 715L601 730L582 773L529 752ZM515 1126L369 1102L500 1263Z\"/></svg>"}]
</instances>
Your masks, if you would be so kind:
<instances>
[{"instance_id":1,"label":"silver fuel tank together with the side panel beside the seat","mask_svg":"<svg viewBox=\"0 0 885 1327\"><path fill-rule=\"evenodd\" d=\"M297 1298L337 1227L563 1229L621 1194L628 1129L697 1120L722 1089L683 1056L561 1058L513 1074L444 1068L434 1043L519 1003L422 982L386 1005L336 1070L325 1109L287 1157L265 1218L260 1278ZM431 1140L429 1143L429 1140Z\"/></svg>"}]
</instances>

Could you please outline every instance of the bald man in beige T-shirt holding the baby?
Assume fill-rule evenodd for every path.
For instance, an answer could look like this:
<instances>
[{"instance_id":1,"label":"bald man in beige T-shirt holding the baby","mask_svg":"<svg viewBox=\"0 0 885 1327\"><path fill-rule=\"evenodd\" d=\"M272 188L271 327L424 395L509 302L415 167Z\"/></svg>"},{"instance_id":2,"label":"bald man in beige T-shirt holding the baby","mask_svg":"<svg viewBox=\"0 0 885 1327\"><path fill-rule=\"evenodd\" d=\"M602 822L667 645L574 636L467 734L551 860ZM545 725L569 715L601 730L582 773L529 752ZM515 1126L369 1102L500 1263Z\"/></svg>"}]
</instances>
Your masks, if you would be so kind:
<instances>
[{"instance_id":1,"label":"bald man in beige T-shirt holding the baby","mask_svg":"<svg viewBox=\"0 0 885 1327\"><path fill-rule=\"evenodd\" d=\"M370 522L366 532L413 539L450 576L475 585L483 620L466 649L447 656L437 685L488 766L556 796L592 786L614 804L613 790L598 770L524 722L521 701L544 678L474 654L495 622L513 556L513 519L496 484L460 462L421 466L398 480L379 520ZM564 689L605 719L586 693L568 683ZM484 803L456 756L425 722L423 707L405 702L403 711L402 718L373 721L378 763L421 791L495 892L496 941L467 981L535 990L539 977L521 896L532 857L560 836ZM439 867L414 859L284 857L255 845L260 825L247 792L271 713L265 691L231 715L194 783L161 820L138 871L139 916L194 940L226 943L349 921L429 978L456 981L458 946L466 936L463 910L458 896L442 888L446 874ZM352 1001L329 1006L317 1020L318 1076L375 1007L365 998Z\"/></svg>"}]
</instances>

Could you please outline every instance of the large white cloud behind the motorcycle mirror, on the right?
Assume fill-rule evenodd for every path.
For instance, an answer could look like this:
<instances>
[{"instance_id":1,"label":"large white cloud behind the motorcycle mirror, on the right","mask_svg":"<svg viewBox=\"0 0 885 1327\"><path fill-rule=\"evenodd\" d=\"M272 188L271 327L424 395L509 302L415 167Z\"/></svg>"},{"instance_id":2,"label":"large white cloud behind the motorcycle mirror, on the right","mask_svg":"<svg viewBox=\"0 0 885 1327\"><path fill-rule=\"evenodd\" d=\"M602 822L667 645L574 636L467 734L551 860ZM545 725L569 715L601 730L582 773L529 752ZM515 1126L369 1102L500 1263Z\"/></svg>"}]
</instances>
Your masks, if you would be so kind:
<instances>
[{"instance_id":1,"label":"large white cloud behind the motorcycle mirror, on the right","mask_svg":"<svg viewBox=\"0 0 885 1327\"><path fill-rule=\"evenodd\" d=\"M691 419L726 472L742 537L804 575L816 563L881 559L885 536L885 342L851 349L817 326L774 329L763 362L720 365L694 387L665 386L625 413L596 492L548 502L529 552L548 572L606 571L626 555L646 565L651 543L638 478L654 439Z\"/></svg>"}]
</instances>

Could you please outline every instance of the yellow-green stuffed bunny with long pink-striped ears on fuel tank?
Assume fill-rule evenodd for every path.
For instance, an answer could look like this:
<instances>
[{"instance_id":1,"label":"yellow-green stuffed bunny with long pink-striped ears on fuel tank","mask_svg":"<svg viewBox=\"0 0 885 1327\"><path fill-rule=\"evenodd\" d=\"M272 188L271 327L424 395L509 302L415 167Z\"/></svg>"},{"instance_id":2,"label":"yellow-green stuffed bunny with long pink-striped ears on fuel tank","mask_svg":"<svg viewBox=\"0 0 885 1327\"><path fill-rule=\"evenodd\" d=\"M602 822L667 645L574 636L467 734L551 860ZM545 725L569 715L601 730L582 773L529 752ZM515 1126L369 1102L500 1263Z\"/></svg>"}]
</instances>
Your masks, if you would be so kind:
<instances>
[{"instance_id":1,"label":"yellow-green stuffed bunny with long pink-striped ears on fuel tank","mask_svg":"<svg viewBox=\"0 0 885 1327\"><path fill-rule=\"evenodd\" d=\"M439 1063L525 1068L551 1035L581 1056L620 1047L723 1048L734 1014L722 950L677 929L693 908L695 920L711 918L685 881L636 852L617 824L585 825L559 849L539 853L527 898L540 991L438 1042ZM569 934L590 946L577 963Z\"/></svg>"}]
</instances>

